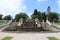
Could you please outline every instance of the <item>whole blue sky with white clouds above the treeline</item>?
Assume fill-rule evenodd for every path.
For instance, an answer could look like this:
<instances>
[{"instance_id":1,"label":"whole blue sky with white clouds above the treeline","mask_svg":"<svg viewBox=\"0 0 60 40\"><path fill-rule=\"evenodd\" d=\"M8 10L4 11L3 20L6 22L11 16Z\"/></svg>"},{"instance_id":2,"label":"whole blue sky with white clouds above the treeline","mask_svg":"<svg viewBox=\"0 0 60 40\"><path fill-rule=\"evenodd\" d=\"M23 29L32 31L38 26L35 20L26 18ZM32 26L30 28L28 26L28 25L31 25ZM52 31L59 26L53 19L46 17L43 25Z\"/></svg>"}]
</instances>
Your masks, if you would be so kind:
<instances>
[{"instance_id":1,"label":"whole blue sky with white clouds above the treeline","mask_svg":"<svg viewBox=\"0 0 60 40\"><path fill-rule=\"evenodd\" d=\"M13 18L19 12L31 16L34 9L46 12L48 6L52 12L60 14L60 0L0 0L0 13L4 16L11 15Z\"/></svg>"}]
</instances>

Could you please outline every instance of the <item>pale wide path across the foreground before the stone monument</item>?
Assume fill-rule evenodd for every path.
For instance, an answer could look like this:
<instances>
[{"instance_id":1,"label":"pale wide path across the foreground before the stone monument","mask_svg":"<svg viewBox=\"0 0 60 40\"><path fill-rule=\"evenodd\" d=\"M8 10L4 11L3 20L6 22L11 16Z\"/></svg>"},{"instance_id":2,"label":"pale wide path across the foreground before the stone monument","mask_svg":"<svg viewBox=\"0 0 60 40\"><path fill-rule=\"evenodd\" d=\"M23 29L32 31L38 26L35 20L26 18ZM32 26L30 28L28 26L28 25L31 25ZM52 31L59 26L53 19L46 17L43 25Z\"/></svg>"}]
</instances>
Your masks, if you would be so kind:
<instances>
[{"instance_id":1,"label":"pale wide path across the foreground before the stone monument","mask_svg":"<svg viewBox=\"0 0 60 40\"><path fill-rule=\"evenodd\" d=\"M12 40L48 40L47 37L60 38L59 33L5 33L0 32L0 40L6 36L13 37Z\"/></svg>"}]
</instances>

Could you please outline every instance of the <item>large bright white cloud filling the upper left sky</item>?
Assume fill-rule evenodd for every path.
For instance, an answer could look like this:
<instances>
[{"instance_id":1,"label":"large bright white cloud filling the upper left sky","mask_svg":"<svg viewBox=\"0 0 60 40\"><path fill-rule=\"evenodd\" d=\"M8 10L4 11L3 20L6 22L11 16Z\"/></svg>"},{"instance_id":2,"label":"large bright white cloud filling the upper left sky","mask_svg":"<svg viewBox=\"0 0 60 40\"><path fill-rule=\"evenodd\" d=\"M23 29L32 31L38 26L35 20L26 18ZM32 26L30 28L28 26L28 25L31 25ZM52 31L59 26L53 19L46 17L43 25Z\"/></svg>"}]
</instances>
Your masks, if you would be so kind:
<instances>
[{"instance_id":1,"label":"large bright white cloud filling the upper left sky","mask_svg":"<svg viewBox=\"0 0 60 40\"><path fill-rule=\"evenodd\" d=\"M0 13L4 16L15 15L14 13L22 11L23 3L23 0L0 0Z\"/></svg>"}]
</instances>

